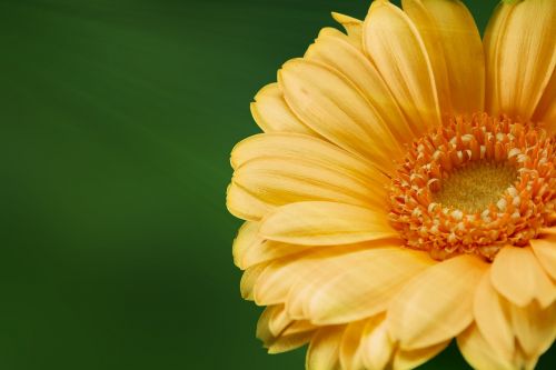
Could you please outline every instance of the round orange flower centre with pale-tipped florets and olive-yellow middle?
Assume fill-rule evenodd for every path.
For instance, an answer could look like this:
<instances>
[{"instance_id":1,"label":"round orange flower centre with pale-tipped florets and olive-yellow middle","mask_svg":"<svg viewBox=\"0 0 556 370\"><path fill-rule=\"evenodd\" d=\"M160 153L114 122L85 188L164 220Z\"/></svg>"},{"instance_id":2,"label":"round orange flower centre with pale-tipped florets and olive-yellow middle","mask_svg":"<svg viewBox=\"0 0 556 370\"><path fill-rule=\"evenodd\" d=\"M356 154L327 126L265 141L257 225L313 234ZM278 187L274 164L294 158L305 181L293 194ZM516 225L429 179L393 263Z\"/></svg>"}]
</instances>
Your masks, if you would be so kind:
<instances>
[{"instance_id":1,"label":"round orange flower centre with pale-tipped florets and olive-yellow middle","mask_svg":"<svg viewBox=\"0 0 556 370\"><path fill-rule=\"evenodd\" d=\"M435 259L526 246L555 221L555 138L533 123L451 118L415 141L390 187L389 219Z\"/></svg>"}]
</instances>

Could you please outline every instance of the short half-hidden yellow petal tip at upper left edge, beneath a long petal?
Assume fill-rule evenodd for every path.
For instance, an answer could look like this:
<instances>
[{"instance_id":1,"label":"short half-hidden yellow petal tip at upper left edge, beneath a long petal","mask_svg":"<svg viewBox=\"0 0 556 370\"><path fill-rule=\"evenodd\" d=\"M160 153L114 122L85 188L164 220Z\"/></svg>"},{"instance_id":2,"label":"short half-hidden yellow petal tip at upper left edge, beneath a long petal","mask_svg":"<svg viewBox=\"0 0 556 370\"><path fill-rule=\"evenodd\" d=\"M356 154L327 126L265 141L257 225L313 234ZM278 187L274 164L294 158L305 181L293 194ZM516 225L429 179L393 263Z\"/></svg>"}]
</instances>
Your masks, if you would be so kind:
<instances>
[{"instance_id":1,"label":"short half-hidden yellow petal tip at upper left edge, beneath a long petal","mask_svg":"<svg viewBox=\"0 0 556 370\"><path fill-rule=\"evenodd\" d=\"M264 87L251 103L251 114L265 132L299 132L317 136L289 109L278 83Z\"/></svg>"}]
</instances>

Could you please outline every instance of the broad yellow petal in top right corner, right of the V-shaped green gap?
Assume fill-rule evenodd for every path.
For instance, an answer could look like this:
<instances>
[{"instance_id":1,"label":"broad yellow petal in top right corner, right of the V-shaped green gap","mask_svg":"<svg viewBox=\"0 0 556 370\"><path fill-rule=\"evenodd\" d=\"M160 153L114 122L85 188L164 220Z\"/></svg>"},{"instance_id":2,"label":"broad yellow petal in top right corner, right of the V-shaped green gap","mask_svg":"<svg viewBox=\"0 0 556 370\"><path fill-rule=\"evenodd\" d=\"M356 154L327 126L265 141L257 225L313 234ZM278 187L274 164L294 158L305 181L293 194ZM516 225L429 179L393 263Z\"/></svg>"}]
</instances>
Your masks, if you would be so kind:
<instances>
[{"instance_id":1,"label":"broad yellow petal in top right corner, right of the V-shaped green gap","mask_svg":"<svg viewBox=\"0 0 556 370\"><path fill-rule=\"evenodd\" d=\"M556 64L556 2L504 3L486 33L492 113L532 118ZM490 70L488 69L490 68Z\"/></svg>"}]
</instances>

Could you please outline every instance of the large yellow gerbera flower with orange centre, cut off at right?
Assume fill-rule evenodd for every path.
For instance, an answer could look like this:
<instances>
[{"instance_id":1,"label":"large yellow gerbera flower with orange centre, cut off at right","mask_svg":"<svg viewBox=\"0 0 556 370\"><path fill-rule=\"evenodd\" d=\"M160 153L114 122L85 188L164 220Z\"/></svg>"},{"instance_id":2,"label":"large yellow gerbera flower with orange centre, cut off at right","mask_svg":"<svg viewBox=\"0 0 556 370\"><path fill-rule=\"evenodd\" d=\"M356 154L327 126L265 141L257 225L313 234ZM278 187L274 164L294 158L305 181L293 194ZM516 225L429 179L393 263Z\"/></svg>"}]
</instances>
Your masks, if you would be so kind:
<instances>
[{"instance_id":1,"label":"large yellow gerbera flower with orange centre, cut off at right","mask_svg":"<svg viewBox=\"0 0 556 370\"><path fill-rule=\"evenodd\" d=\"M251 104L232 151L241 292L270 352L411 369L454 339L530 369L556 336L556 1L334 13Z\"/></svg>"}]
</instances>

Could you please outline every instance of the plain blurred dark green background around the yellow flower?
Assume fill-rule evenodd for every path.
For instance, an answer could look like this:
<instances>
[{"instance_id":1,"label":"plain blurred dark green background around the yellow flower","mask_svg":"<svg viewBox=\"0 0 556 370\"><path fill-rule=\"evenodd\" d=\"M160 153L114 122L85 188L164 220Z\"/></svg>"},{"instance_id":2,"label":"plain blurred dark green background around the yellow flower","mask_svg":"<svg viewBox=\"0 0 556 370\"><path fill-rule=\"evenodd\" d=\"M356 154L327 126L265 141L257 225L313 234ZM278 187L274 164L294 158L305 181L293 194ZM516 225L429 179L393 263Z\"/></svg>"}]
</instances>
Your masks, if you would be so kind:
<instances>
[{"instance_id":1,"label":"plain blurred dark green background around the yellow flower","mask_svg":"<svg viewBox=\"0 0 556 370\"><path fill-rule=\"evenodd\" d=\"M495 1L468 4L483 28ZM229 151L329 12L367 7L0 1L0 367L301 369L239 294Z\"/></svg>"}]
</instances>

